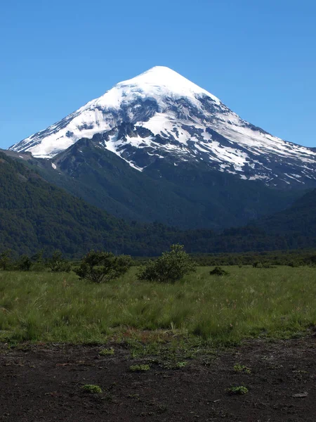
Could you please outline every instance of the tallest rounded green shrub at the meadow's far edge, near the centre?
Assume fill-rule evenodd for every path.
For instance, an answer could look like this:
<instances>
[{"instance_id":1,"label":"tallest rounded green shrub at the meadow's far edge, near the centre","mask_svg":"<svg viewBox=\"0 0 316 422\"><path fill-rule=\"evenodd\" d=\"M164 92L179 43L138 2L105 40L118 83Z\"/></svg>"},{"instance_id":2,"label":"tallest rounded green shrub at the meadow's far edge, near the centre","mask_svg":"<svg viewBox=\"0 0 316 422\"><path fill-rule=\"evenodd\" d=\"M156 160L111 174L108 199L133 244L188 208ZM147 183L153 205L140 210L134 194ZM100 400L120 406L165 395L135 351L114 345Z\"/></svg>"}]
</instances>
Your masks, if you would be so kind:
<instances>
[{"instance_id":1,"label":"tallest rounded green shrub at the meadow's far edge, near the centre","mask_svg":"<svg viewBox=\"0 0 316 422\"><path fill-rule=\"evenodd\" d=\"M185 252L183 245L171 245L169 252L163 252L156 261L150 261L140 268L138 279L174 283L195 271L196 263Z\"/></svg>"}]
</instances>

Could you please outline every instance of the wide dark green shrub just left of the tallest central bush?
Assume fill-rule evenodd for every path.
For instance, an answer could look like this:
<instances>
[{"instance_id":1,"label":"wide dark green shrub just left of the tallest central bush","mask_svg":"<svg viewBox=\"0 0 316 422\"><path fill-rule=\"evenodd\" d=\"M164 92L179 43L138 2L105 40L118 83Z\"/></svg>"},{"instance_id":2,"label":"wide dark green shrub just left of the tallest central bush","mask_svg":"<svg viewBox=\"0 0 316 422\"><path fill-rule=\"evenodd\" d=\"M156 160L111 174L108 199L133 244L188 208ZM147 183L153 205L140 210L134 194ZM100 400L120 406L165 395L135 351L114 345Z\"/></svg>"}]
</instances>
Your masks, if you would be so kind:
<instances>
[{"instance_id":1,"label":"wide dark green shrub just left of the tallest central bush","mask_svg":"<svg viewBox=\"0 0 316 422\"><path fill-rule=\"evenodd\" d=\"M105 283L125 274L131 264L129 255L116 257L112 252L91 250L82 258L79 268L74 272L80 279L93 281L93 283Z\"/></svg>"}]
</instances>

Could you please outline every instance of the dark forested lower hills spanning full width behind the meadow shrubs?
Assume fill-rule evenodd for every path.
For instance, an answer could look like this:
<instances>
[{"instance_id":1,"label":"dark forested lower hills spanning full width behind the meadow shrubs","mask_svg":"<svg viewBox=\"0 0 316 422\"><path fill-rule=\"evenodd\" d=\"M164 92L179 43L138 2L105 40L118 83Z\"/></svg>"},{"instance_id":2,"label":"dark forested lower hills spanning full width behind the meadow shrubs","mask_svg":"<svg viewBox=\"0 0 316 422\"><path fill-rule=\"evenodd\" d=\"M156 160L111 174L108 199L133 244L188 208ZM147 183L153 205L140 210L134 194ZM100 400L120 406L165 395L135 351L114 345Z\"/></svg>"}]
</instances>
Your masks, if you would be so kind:
<instances>
[{"instance_id":1,"label":"dark forested lower hills spanning full width behind the meadow shrubs","mask_svg":"<svg viewBox=\"0 0 316 422\"><path fill-rule=\"evenodd\" d=\"M155 256L173 243L191 253L293 250L316 246L316 190L287 210L221 233L181 231L161 223L126 222L49 184L22 162L0 153L0 250L18 254L59 249L66 257L88 250Z\"/></svg>"}]
</instances>

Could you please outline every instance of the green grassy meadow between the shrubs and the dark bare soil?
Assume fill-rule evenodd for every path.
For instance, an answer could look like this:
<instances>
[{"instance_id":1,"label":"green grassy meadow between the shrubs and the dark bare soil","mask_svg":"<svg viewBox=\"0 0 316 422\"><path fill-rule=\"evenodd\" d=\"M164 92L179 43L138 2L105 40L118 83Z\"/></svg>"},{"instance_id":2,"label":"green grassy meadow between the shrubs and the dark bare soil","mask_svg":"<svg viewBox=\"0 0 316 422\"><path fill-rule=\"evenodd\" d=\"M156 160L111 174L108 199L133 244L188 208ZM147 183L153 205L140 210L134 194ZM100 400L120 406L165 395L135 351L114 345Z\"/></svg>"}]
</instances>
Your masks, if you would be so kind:
<instances>
[{"instance_id":1,"label":"green grassy meadow between the shrubs and the dark bare soil","mask_svg":"<svg viewBox=\"0 0 316 422\"><path fill-rule=\"evenodd\" d=\"M316 324L316 268L211 267L174 284L92 284L74 273L0 272L0 341L106 343L165 335L234 344L287 338ZM146 334L146 335L145 335Z\"/></svg>"}]
</instances>

